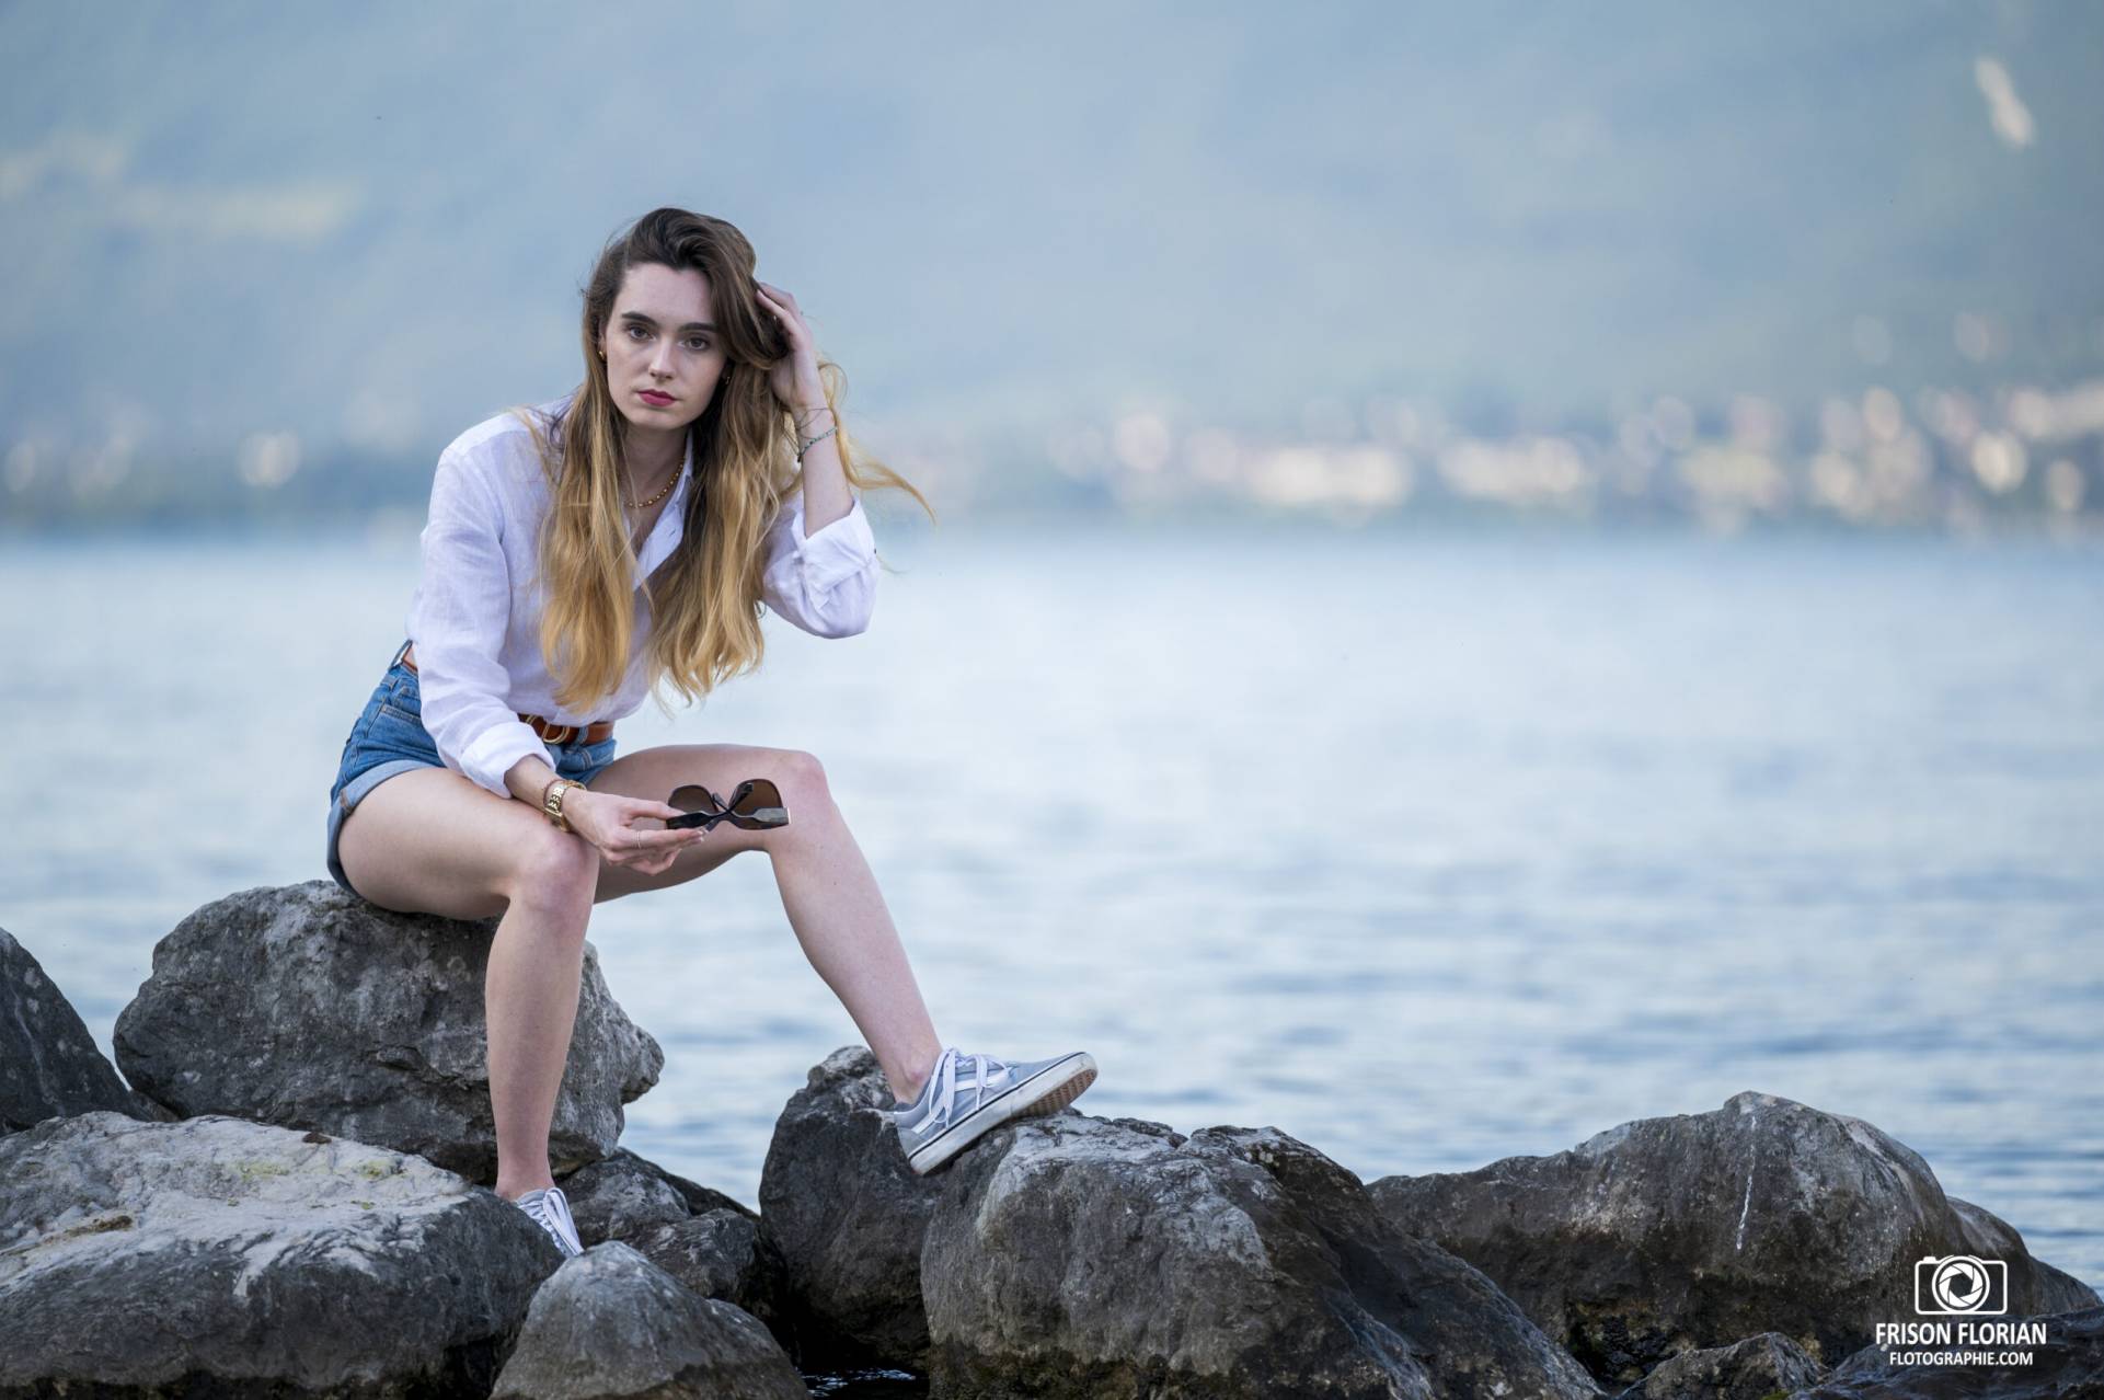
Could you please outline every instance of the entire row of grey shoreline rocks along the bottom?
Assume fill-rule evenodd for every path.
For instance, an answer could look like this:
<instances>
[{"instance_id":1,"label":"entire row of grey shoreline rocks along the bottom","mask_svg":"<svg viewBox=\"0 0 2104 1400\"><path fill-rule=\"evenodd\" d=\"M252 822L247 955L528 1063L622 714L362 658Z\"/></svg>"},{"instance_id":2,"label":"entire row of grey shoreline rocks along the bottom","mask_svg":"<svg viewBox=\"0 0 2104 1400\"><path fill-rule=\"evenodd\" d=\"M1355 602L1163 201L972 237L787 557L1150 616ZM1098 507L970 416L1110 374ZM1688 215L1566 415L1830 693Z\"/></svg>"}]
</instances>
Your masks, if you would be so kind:
<instances>
[{"instance_id":1,"label":"entire row of grey shoreline rocks along the bottom","mask_svg":"<svg viewBox=\"0 0 2104 1400\"><path fill-rule=\"evenodd\" d=\"M751 1211L619 1147L663 1053L589 943L562 1259L488 1189L492 931L322 880L229 895L156 945L116 1065L0 931L0 1400L774 1398L856 1368L949 1398L2104 1396L2089 1286L1873 1124L1761 1093L1370 1183L1277 1128L1069 1107L915 1177L846 1046ZM1953 1255L1997 1265L2028 1360L1879 1345Z\"/></svg>"}]
</instances>

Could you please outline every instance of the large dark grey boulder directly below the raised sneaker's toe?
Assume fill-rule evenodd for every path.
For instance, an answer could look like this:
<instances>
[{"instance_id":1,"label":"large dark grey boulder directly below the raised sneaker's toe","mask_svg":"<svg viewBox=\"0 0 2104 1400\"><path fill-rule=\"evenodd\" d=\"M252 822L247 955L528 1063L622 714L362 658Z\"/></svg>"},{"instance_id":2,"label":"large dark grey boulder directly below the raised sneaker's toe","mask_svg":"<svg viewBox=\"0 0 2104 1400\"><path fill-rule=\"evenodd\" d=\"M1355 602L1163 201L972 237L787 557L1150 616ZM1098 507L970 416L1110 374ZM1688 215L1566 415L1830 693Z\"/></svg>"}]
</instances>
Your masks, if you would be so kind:
<instances>
[{"instance_id":1,"label":"large dark grey boulder directly below the raised sneaker's toe","mask_svg":"<svg viewBox=\"0 0 2104 1400\"><path fill-rule=\"evenodd\" d=\"M1589 1398L1477 1269L1277 1128L995 1128L922 1251L936 1396Z\"/></svg>"}]
</instances>

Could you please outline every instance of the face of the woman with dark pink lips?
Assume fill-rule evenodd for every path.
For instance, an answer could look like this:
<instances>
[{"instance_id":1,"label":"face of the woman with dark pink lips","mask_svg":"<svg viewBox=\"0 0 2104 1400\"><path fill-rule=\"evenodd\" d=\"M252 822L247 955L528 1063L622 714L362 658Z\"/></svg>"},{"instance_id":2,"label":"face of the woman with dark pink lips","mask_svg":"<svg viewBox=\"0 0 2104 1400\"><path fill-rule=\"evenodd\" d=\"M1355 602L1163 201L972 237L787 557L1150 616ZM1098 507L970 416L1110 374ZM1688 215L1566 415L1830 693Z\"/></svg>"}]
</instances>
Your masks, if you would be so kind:
<instances>
[{"instance_id":1,"label":"face of the woman with dark pink lips","mask_svg":"<svg viewBox=\"0 0 2104 1400\"><path fill-rule=\"evenodd\" d=\"M667 432L709 406L726 368L709 316L709 278L692 267L629 267L600 328L606 387L629 423Z\"/></svg>"}]
</instances>

